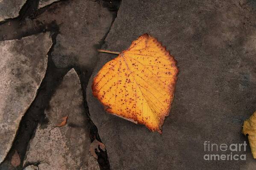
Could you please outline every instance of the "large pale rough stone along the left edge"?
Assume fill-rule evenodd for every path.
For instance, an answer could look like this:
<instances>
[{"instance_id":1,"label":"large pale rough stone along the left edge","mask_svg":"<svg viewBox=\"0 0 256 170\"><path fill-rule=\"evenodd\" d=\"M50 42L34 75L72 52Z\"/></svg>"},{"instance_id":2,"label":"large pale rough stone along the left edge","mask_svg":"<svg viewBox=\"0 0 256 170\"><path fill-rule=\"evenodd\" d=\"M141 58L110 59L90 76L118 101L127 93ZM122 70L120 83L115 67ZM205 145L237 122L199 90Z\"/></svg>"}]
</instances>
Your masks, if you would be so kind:
<instances>
[{"instance_id":1,"label":"large pale rough stone along the left edge","mask_svg":"<svg viewBox=\"0 0 256 170\"><path fill-rule=\"evenodd\" d=\"M0 41L0 163L44 78L50 33Z\"/></svg>"}]
</instances>

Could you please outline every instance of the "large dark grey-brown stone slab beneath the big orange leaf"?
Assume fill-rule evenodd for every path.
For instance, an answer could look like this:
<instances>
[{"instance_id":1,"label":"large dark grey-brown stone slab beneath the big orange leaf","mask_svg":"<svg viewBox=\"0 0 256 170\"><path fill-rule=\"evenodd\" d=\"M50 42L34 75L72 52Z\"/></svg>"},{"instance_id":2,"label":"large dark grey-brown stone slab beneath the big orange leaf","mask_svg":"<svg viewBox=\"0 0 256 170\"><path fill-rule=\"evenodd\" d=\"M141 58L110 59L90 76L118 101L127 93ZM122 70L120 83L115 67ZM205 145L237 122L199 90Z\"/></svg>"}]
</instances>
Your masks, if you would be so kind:
<instances>
[{"instance_id":1,"label":"large dark grey-brown stone slab beneath the big orange leaf","mask_svg":"<svg viewBox=\"0 0 256 170\"><path fill-rule=\"evenodd\" d=\"M246 161L203 159L204 154L231 152L205 152L205 141L248 144L241 126L256 110L256 2L246 2L122 1L106 49L125 50L149 33L171 51L180 72L162 135L105 113L89 83L91 118L113 170L255 169L248 145L245 152L233 152L245 153ZM100 54L94 75L114 57Z\"/></svg>"}]
</instances>

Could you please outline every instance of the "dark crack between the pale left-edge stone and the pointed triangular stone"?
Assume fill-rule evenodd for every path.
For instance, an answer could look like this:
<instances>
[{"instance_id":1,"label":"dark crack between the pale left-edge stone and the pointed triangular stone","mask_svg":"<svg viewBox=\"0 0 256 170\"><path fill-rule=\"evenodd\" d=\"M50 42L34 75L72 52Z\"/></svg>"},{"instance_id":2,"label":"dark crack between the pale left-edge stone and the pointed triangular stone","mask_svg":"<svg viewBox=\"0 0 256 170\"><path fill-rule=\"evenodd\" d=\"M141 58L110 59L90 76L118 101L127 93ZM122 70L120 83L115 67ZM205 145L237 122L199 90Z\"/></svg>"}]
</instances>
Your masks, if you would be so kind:
<instances>
[{"instance_id":1,"label":"dark crack between the pale left-edge stone and the pointed triangular stone","mask_svg":"<svg viewBox=\"0 0 256 170\"><path fill-rule=\"evenodd\" d=\"M35 99L32 104L27 109L26 113L21 119L18 127L15 139L12 142L12 147L9 150L4 161L0 164L0 169L5 162L9 162L15 150L18 150L19 156L21 158L21 164L17 167L18 170L23 170L23 162L26 155L26 149L30 140L35 135L35 130L38 124L46 124L47 119L45 118L44 110L47 108L50 102L50 98L53 95L56 87L59 85L62 77L68 72L69 69L56 68L52 59L51 53L53 51L54 45L56 44L56 36L59 34L59 29L57 28L54 32L52 31L52 46L49 49L47 56L47 70L45 72L44 79L42 80L40 87L37 90ZM39 106L38 106L39 105ZM27 128L29 127L29 128Z\"/></svg>"}]
</instances>

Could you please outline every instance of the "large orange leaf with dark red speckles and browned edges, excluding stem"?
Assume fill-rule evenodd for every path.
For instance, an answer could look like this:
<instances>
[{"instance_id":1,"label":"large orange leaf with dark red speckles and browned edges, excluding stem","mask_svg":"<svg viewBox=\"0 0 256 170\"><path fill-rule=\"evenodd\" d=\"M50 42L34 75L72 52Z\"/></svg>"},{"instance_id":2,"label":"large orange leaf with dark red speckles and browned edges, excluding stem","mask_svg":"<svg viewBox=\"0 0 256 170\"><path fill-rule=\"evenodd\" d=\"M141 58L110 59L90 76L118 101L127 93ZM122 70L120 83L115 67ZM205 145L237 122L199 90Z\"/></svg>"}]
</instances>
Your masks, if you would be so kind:
<instances>
[{"instance_id":1,"label":"large orange leaf with dark red speckles and browned edges, excluding stem","mask_svg":"<svg viewBox=\"0 0 256 170\"><path fill-rule=\"evenodd\" d=\"M143 34L94 77L93 95L107 112L161 133L177 80L174 57L156 38Z\"/></svg>"}]
</instances>

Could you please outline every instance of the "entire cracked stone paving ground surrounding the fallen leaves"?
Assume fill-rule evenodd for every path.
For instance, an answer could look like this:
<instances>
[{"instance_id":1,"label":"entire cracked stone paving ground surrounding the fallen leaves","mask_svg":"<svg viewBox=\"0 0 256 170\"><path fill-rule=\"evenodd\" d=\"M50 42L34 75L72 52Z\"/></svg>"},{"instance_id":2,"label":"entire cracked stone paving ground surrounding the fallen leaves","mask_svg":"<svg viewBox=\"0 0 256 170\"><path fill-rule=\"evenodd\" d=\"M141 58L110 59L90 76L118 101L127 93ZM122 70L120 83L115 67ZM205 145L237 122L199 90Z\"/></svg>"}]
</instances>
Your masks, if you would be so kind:
<instances>
[{"instance_id":1,"label":"entire cracked stone paving ground surrounding the fallen leaves","mask_svg":"<svg viewBox=\"0 0 256 170\"><path fill-rule=\"evenodd\" d=\"M0 9L10 9L0 11L0 93L19 96L15 97L14 107L9 105L11 99L3 100L1 95L0 170L256 168L249 146L238 152L246 154L246 161L203 160L204 154L230 154L204 151L205 141L248 143L241 127L256 110L255 0L21 3L0 1ZM162 135L106 113L91 93L92 78L115 57L98 54L96 49L122 51L144 33L161 41L179 67L174 102ZM42 34L51 35L52 46L48 50L42 45L45 40L34 40ZM47 69L38 73L45 74L42 82L40 76L29 76L37 83L24 87L28 98L24 106L24 91L15 90L10 82L27 83L19 77L29 75L24 66L29 67L27 63L32 71L40 67L41 62L33 65L37 60L29 60L31 54L40 59L47 56ZM8 66L15 62L14 57L22 58L17 61L23 65ZM6 70L10 70L8 74ZM19 70L23 71L19 76L12 75ZM35 89L37 94L33 97ZM22 111L18 113L13 108ZM16 117L7 116L12 112ZM67 125L50 130L67 114ZM4 131L8 126L14 127L12 134ZM106 145L106 151L97 153L98 164L88 154L89 143L94 139ZM10 162L16 151L21 163L14 167Z\"/></svg>"}]
</instances>

